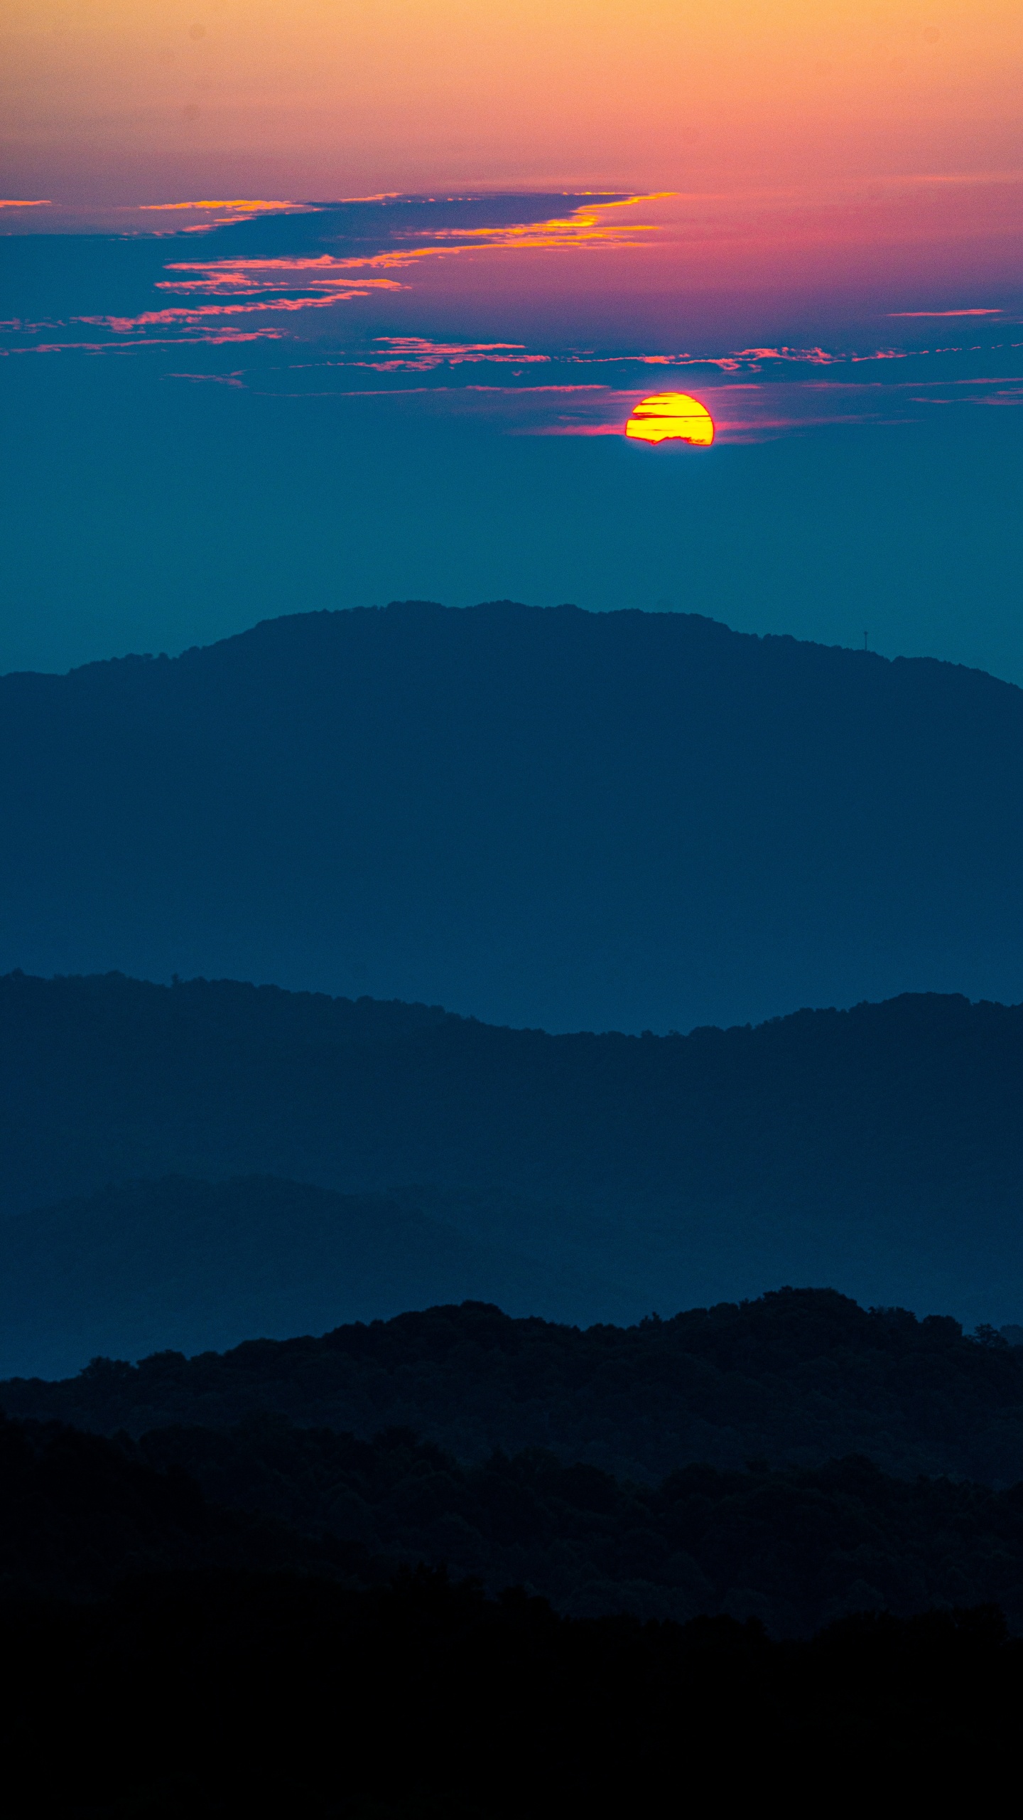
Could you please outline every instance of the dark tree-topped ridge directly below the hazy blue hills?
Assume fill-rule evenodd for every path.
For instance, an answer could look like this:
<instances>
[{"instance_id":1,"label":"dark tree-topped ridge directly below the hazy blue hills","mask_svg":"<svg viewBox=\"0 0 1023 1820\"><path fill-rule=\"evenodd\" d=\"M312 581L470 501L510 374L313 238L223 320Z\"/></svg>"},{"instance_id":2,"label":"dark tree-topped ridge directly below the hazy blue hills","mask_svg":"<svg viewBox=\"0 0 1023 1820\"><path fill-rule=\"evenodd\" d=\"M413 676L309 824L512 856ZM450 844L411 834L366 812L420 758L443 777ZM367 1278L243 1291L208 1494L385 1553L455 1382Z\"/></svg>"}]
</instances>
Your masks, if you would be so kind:
<instances>
[{"instance_id":1,"label":"dark tree-topped ridge directly below the hazy blue hills","mask_svg":"<svg viewBox=\"0 0 1023 1820\"><path fill-rule=\"evenodd\" d=\"M435 1307L322 1338L7 1380L0 1407L137 1438L260 1412L362 1440L397 1425L466 1463L542 1447L646 1483L688 1463L817 1467L843 1454L905 1478L1023 1478L1021 1347L834 1290L592 1329Z\"/></svg>"}]
</instances>

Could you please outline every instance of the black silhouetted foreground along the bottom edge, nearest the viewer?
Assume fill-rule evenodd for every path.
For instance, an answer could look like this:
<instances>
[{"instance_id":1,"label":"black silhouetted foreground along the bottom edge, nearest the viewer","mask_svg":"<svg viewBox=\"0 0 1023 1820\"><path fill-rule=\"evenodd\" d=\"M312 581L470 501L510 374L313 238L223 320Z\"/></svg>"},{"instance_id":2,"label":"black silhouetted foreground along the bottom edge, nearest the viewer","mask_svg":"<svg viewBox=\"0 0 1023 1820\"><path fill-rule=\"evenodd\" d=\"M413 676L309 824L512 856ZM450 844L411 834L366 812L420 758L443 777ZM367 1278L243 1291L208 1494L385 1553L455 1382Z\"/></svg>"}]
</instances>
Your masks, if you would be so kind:
<instances>
[{"instance_id":1,"label":"black silhouetted foreground along the bottom edge, nearest the viewer","mask_svg":"<svg viewBox=\"0 0 1023 1820\"><path fill-rule=\"evenodd\" d=\"M0 1605L5 1811L213 1820L619 1820L677 1802L797 1813L843 1800L967 1805L1010 1787L1023 1645L998 1611L845 1620L770 1642L559 1618L428 1572L169 1574L89 1605Z\"/></svg>"}]
</instances>

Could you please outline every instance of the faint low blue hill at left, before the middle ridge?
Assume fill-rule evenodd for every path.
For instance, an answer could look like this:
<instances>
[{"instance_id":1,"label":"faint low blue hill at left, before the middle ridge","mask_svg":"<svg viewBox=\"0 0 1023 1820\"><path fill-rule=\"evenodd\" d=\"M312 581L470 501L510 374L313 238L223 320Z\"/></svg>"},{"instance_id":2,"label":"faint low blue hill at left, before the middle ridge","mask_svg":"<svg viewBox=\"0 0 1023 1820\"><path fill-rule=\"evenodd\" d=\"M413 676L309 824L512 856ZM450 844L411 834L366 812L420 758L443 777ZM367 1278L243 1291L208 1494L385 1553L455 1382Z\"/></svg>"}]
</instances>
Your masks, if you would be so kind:
<instances>
[{"instance_id":1,"label":"faint low blue hill at left, before the middle ridge","mask_svg":"<svg viewBox=\"0 0 1023 1820\"><path fill-rule=\"evenodd\" d=\"M60 1378L98 1352L204 1352L473 1296L572 1312L595 1292L379 1194L135 1181L0 1221L0 1370Z\"/></svg>"}]
</instances>

